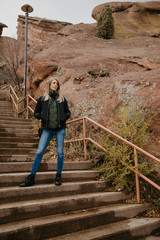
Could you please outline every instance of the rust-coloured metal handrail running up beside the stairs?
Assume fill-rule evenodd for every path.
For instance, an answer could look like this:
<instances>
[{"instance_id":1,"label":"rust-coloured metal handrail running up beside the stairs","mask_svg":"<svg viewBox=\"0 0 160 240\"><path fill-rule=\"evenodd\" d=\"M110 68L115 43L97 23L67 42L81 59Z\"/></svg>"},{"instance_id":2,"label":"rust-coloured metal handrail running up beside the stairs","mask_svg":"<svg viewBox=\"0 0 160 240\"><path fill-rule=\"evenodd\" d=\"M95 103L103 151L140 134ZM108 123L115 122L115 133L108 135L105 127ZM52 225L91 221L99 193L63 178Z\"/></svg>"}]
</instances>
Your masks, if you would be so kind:
<instances>
[{"instance_id":1,"label":"rust-coloured metal handrail running up beside the stairs","mask_svg":"<svg viewBox=\"0 0 160 240\"><path fill-rule=\"evenodd\" d=\"M34 112L34 110L29 106L29 99L31 99L32 101L34 101L35 103L37 103L37 101L30 96L29 94L24 97L21 98L19 100L19 98L17 97L14 89L12 88L12 86L9 87L9 97L13 102L13 108L14 110L16 109L16 113L17 116L24 112L27 111L27 119L29 117L29 110L31 112ZM16 98L16 100L15 100ZM26 99L26 103L27 106L25 109L23 109L22 111L18 111L18 105L19 103L21 103L24 99ZM67 121L67 124L71 124L74 122L78 122L78 121L83 121L83 138L80 139L71 139L71 140L66 140L65 143L72 143L72 142L77 142L77 141L83 141L84 143L84 159L87 159L87 141L90 141L91 143L95 144L97 147L99 147L100 149L102 149L104 152L107 152L107 149L104 148L103 146L101 146L99 143L97 143L96 141L94 141L93 139L89 138L86 136L86 120L89 121L90 123L94 124L95 126L99 127L100 129L104 130L105 132L111 134L112 136L118 138L119 140L125 142L126 144L130 145L131 147L133 147L134 149L134 162L135 162L135 166L131 167L129 165L127 165L124 161L122 161L121 159L117 159L119 162L121 162L124 166L126 166L128 169L130 169L132 172L135 173L135 178L136 178L136 195L137 195L137 203L140 203L140 187L139 187L139 177L143 178L146 182L148 182L149 184L151 184L153 187L155 187L156 189L158 189L160 191L160 186L157 185L156 183L154 183L153 181L151 181L149 178L147 178L146 176L144 176L143 174L141 174L138 171L138 155L137 155L137 151L140 151L141 153L143 153L144 155L146 155L147 157L151 158L152 160L156 161L157 163L160 164L160 159L156 158L155 156L153 156L152 154L146 152L145 150L143 150L142 148L138 147L137 145L129 142L128 140L124 139L123 137L119 136L118 134L112 132L111 130L107 129L106 127L102 126L101 124L93 121L92 119L88 118L88 117L81 117L81 118L77 118L74 120L70 120Z\"/></svg>"}]
</instances>

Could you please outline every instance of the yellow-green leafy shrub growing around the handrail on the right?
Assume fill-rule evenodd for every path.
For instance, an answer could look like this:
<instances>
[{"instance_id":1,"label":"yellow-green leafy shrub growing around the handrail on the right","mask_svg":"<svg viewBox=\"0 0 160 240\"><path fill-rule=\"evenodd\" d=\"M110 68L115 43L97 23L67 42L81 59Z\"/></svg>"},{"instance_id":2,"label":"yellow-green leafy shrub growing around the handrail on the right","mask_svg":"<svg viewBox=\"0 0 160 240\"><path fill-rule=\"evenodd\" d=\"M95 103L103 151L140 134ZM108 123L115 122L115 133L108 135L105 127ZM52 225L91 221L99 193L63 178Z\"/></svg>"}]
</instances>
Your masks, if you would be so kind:
<instances>
[{"instance_id":1,"label":"yellow-green leafy shrub growing around the handrail on the right","mask_svg":"<svg viewBox=\"0 0 160 240\"><path fill-rule=\"evenodd\" d=\"M150 135L148 128L154 114L142 109L137 103L130 103L126 107L121 107L117 121L114 124L114 131L126 140L144 147ZM107 154L99 166L100 174L115 189L135 191L135 174L126 168L121 162L134 167L134 149L130 145L115 139L111 135L102 137ZM144 155L138 152L139 171L145 176L154 179L156 177L154 164L144 161Z\"/></svg>"}]
</instances>

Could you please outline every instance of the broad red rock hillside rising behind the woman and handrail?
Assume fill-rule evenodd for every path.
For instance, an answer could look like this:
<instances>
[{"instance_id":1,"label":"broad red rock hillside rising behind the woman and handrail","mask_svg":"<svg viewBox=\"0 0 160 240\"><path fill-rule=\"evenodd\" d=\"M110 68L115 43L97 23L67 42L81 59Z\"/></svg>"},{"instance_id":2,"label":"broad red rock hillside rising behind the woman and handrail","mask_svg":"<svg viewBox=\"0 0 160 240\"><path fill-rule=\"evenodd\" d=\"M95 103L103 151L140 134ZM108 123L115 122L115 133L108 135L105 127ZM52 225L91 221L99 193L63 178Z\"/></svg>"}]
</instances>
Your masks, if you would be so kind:
<instances>
[{"instance_id":1,"label":"broad red rock hillside rising behind the woman and handrail","mask_svg":"<svg viewBox=\"0 0 160 240\"><path fill-rule=\"evenodd\" d=\"M135 28L137 21L140 24L141 17L148 23L155 18L153 26L157 24L157 28L154 32L158 34L159 22L156 21L160 2L153 2L153 5L152 2L110 4L115 9L116 26L115 37L110 40L96 37L96 24L81 23L52 33L49 42L43 42L42 37L38 44L38 38L33 33L35 25L30 23L29 42L31 44L34 39L37 44L30 45L28 49L27 89L38 99L49 77L57 76L61 91L69 101L72 118L86 115L109 128L118 107L131 100L147 109L154 108L157 113L152 125L154 135L147 150L160 157L160 38L153 35L153 28L149 30L148 25L145 31L144 27ZM145 4L149 10L146 10ZM141 10L143 6L144 10L138 10L137 6ZM96 9L99 8L102 9L102 6L93 10L96 19L100 11ZM134 21L133 13L138 20L135 18ZM129 17L132 21L124 26L120 24ZM23 69L22 61L18 69L22 79Z\"/></svg>"}]
</instances>

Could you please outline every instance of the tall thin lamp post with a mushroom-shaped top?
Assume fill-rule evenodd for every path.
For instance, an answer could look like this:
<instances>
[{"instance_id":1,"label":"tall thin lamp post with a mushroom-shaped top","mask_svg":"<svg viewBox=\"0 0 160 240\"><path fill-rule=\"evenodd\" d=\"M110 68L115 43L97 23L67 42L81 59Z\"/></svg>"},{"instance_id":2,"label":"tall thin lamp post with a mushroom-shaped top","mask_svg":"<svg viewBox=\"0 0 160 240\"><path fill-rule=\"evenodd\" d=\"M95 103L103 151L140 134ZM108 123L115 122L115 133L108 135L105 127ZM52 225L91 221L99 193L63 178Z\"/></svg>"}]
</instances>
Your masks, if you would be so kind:
<instances>
[{"instance_id":1,"label":"tall thin lamp post with a mushroom-shaped top","mask_svg":"<svg viewBox=\"0 0 160 240\"><path fill-rule=\"evenodd\" d=\"M26 81L27 81L27 38L28 38L28 13L33 12L33 8L25 4L21 10L26 13L25 18L25 56L24 56L24 109L26 108Z\"/></svg>"}]
</instances>

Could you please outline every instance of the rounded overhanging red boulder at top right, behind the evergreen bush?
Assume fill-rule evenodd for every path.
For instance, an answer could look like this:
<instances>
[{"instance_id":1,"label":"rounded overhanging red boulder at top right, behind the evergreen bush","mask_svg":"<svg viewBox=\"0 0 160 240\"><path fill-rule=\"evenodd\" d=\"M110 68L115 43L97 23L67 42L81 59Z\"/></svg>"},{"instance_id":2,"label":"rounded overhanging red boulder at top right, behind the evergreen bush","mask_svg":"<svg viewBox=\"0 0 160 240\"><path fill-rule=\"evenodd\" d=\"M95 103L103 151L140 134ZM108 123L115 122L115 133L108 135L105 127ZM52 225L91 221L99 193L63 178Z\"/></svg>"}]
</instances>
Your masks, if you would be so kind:
<instances>
[{"instance_id":1,"label":"rounded overhanging red boulder at top right, behind the evergreen bush","mask_svg":"<svg viewBox=\"0 0 160 240\"><path fill-rule=\"evenodd\" d=\"M105 5L109 5L113 12L115 36L160 36L160 2L104 3L93 9L95 20L98 20Z\"/></svg>"}]
</instances>

